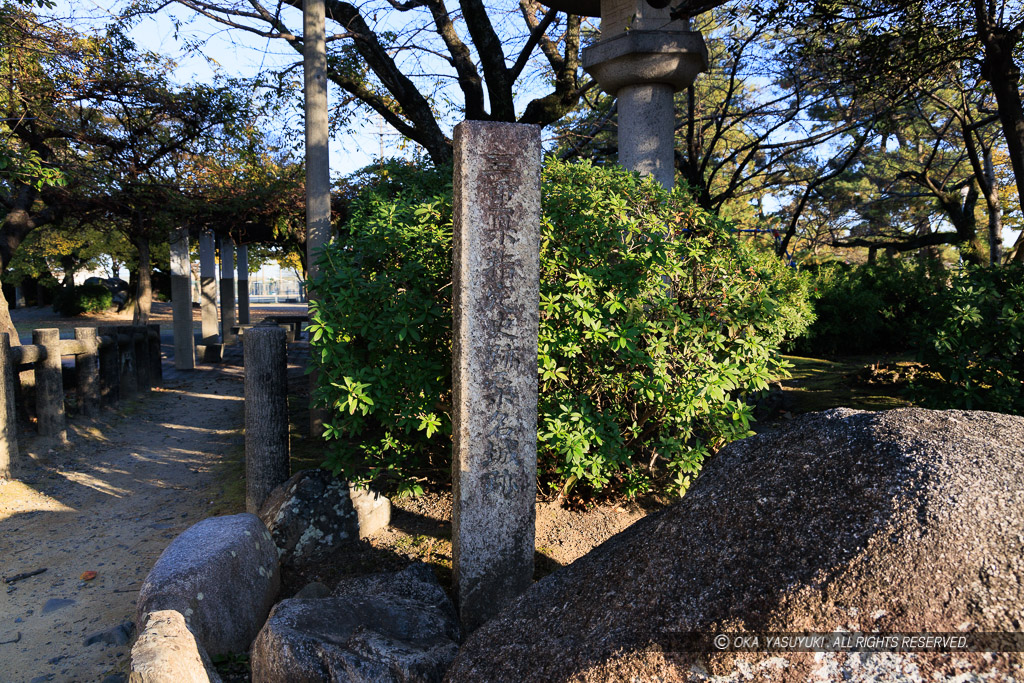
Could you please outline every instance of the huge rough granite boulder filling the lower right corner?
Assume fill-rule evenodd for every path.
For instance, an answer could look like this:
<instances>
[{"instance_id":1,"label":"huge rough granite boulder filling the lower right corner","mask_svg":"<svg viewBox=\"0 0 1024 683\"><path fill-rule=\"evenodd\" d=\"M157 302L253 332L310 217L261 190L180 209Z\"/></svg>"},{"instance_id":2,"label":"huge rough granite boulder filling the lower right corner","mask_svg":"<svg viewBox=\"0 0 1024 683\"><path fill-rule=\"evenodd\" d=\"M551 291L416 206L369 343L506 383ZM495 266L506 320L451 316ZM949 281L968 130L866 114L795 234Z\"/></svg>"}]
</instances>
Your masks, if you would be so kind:
<instances>
[{"instance_id":1,"label":"huge rough granite boulder filling the lower right corner","mask_svg":"<svg viewBox=\"0 0 1024 683\"><path fill-rule=\"evenodd\" d=\"M477 630L447 679L1024 680L1020 652L682 651L690 633L1022 629L1024 418L836 410L723 450Z\"/></svg>"}]
</instances>

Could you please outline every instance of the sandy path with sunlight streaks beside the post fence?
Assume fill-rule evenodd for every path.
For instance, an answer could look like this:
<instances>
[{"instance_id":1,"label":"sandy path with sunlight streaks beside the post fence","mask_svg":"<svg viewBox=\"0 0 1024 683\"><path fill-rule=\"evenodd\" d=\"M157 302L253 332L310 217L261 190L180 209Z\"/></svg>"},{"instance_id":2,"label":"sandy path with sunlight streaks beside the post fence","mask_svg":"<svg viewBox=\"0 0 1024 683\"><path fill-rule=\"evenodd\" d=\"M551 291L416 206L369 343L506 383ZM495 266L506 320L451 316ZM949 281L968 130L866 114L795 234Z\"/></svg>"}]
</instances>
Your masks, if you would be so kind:
<instances>
[{"instance_id":1,"label":"sandy path with sunlight streaks beside the post fence","mask_svg":"<svg viewBox=\"0 0 1024 683\"><path fill-rule=\"evenodd\" d=\"M127 645L83 641L134 620L156 558L213 509L216 467L243 447L242 393L238 365L173 374L120 414L75 419L70 447L43 454L19 481L0 480L0 574L46 567L0 585L0 680L127 671ZM87 570L96 578L81 581Z\"/></svg>"}]
</instances>

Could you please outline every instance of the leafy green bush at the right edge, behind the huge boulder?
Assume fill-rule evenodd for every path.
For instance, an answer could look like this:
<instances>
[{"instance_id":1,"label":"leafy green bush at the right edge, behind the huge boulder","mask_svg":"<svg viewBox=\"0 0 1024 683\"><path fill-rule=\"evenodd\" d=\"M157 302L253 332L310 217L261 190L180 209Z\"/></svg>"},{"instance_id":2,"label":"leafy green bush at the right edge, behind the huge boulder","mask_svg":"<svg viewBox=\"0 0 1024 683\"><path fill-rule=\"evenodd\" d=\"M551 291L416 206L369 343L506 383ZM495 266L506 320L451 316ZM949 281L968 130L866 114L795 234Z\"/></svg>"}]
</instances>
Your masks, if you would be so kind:
<instances>
[{"instance_id":1,"label":"leafy green bush at the right edge, behind the huge boulder","mask_svg":"<svg viewBox=\"0 0 1024 683\"><path fill-rule=\"evenodd\" d=\"M953 279L922 359L941 381L913 389L926 405L1024 414L1024 266L968 267Z\"/></svg>"}]
</instances>

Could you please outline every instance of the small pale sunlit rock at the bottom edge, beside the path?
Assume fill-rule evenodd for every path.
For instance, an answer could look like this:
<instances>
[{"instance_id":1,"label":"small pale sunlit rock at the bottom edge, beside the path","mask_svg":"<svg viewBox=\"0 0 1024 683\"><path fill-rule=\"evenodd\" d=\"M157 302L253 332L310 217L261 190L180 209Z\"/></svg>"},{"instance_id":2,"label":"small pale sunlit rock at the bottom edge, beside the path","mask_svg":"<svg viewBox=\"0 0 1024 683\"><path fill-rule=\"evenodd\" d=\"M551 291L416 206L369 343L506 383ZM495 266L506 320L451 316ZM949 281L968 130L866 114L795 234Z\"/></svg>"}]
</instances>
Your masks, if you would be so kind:
<instances>
[{"instance_id":1,"label":"small pale sunlit rock at the bottom edge, beside the path","mask_svg":"<svg viewBox=\"0 0 1024 683\"><path fill-rule=\"evenodd\" d=\"M146 615L131 648L130 683L220 683L206 650L173 609Z\"/></svg>"}]
</instances>

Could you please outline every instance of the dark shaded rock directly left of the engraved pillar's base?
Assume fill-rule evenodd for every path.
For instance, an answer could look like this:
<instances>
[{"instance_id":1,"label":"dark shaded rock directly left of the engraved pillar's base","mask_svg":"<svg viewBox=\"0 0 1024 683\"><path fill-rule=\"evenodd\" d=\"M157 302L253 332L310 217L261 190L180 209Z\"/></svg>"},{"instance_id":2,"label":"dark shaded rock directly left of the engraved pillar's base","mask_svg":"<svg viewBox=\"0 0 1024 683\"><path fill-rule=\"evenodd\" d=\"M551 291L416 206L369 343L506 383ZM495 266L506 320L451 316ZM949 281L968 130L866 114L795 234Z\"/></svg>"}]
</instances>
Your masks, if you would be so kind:
<instances>
[{"instance_id":1,"label":"dark shaded rock directly left of the engraved pillar's base","mask_svg":"<svg viewBox=\"0 0 1024 683\"><path fill-rule=\"evenodd\" d=\"M415 564L282 601L253 643L253 681L440 681L459 635L433 571Z\"/></svg>"}]
</instances>

